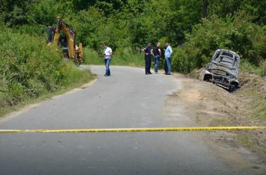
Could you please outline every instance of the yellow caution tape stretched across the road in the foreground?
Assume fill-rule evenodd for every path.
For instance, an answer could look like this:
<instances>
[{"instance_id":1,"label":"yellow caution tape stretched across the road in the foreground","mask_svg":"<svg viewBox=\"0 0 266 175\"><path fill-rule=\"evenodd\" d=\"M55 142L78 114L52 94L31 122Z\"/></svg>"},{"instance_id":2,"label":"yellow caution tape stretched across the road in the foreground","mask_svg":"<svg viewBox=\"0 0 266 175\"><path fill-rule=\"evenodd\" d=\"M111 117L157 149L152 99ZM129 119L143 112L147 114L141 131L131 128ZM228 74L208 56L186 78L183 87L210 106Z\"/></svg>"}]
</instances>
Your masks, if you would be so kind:
<instances>
[{"instance_id":1,"label":"yellow caution tape stretched across the road in the foreground","mask_svg":"<svg viewBox=\"0 0 266 175\"><path fill-rule=\"evenodd\" d=\"M12 130L0 129L0 133L22 132L154 132L154 131L214 131L214 130L245 130L266 129L266 126L242 126L242 127L157 127L157 128L109 128L109 129L36 129L36 130Z\"/></svg>"}]
</instances>

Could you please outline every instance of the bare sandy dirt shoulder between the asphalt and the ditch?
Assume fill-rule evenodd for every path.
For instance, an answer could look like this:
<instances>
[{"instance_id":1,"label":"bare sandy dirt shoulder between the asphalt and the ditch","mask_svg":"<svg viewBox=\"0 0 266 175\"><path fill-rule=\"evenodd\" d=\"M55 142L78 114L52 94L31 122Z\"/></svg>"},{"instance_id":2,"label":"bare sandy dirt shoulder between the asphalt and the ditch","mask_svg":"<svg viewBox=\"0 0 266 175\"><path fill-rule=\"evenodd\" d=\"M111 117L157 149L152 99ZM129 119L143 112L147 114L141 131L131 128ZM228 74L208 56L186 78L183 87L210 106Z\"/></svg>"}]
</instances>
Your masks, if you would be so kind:
<instances>
[{"instance_id":1,"label":"bare sandy dirt shoulder between the asphalt and the ditch","mask_svg":"<svg viewBox=\"0 0 266 175\"><path fill-rule=\"evenodd\" d=\"M241 75L244 76L244 75ZM247 75L245 75L247 76ZM194 126L264 126L265 120L254 117L254 96L247 95L254 77L244 78L242 89L234 93L191 77L177 75L182 81L183 89L172 95L181 100L192 115ZM256 81L260 87L262 82ZM265 84L264 84L265 86ZM266 88L265 88L266 89ZM260 92L261 93L261 92ZM251 98L253 97L253 98ZM266 131L212 131L204 132L203 139L208 142L210 150L240 169L265 169L266 165ZM253 162L252 164L248 163ZM245 165L249 165L246 167Z\"/></svg>"}]
</instances>

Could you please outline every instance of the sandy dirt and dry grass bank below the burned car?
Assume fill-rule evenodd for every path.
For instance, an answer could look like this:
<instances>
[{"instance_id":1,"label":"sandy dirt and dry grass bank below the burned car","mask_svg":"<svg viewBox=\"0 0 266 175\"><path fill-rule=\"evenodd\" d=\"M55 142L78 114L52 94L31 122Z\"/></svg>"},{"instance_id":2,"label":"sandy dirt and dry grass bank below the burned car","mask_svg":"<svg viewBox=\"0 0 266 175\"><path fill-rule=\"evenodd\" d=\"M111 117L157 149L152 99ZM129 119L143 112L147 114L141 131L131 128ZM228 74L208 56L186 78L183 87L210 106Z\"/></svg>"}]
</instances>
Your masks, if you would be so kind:
<instances>
[{"instance_id":1,"label":"sandy dirt and dry grass bank below the burned car","mask_svg":"<svg viewBox=\"0 0 266 175\"><path fill-rule=\"evenodd\" d=\"M190 76L198 77L200 70ZM198 126L264 126L266 112L266 78L240 72L241 88L234 93L206 81L179 76L184 90L174 94L195 112ZM266 158L266 131L217 131L212 140L241 143Z\"/></svg>"}]
</instances>

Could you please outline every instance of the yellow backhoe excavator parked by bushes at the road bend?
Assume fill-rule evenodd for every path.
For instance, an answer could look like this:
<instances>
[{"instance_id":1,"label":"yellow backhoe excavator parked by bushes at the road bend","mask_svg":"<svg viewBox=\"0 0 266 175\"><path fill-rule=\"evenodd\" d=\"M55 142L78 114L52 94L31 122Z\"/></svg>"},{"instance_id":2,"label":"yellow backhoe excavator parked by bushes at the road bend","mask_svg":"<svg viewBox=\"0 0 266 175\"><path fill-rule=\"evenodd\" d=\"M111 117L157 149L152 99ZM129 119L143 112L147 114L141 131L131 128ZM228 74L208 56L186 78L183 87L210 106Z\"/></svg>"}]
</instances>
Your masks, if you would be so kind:
<instances>
[{"instance_id":1,"label":"yellow backhoe excavator parked by bushes at the road bend","mask_svg":"<svg viewBox=\"0 0 266 175\"><path fill-rule=\"evenodd\" d=\"M72 59L77 65L82 63L82 43L76 45L76 31L73 27L57 17L56 26L47 27L47 45L61 46L65 57Z\"/></svg>"}]
</instances>

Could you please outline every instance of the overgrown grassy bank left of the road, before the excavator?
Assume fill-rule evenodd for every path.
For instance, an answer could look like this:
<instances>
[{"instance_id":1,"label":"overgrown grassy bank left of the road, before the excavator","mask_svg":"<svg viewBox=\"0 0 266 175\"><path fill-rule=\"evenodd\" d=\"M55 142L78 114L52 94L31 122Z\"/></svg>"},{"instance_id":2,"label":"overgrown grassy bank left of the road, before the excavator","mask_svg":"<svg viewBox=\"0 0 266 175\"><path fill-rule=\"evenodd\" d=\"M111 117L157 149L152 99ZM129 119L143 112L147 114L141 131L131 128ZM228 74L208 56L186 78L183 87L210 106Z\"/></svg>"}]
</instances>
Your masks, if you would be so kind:
<instances>
[{"instance_id":1,"label":"overgrown grassy bank left of the road, before the excavator","mask_svg":"<svg viewBox=\"0 0 266 175\"><path fill-rule=\"evenodd\" d=\"M0 29L0 116L94 79L45 38Z\"/></svg>"}]
</instances>

